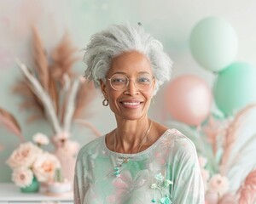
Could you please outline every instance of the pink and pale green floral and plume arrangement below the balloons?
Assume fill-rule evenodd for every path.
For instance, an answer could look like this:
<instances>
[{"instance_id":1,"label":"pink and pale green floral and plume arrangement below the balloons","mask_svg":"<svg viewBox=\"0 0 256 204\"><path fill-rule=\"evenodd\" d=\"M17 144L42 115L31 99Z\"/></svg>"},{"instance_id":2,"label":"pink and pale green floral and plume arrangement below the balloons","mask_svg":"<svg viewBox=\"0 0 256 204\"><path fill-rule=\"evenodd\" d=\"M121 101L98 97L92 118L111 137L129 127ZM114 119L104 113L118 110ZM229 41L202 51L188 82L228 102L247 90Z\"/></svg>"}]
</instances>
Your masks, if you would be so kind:
<instances>
[{"instance_id":1,"label":"pink and pale green floral and plume arrangement below the balloons","mask_svg":"<svg viewBox=\"0 0 256 204\"><path fill-rule=\"evenodd\" d=\"M199 155L206 204L256 201L256 105L235 116L210 116L201 128L171 122L191 139Z\"/></svg>"}]
</instances>

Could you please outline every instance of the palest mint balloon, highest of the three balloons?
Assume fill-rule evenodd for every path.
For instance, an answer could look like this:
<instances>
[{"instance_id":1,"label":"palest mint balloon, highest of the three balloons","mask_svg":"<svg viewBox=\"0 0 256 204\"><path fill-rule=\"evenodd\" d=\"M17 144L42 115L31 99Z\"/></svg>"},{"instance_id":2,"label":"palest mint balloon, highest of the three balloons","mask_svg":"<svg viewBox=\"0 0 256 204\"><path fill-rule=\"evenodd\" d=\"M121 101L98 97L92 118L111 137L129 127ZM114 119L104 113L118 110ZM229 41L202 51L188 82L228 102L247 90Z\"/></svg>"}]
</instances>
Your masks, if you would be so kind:
<instances>
[{"instance_id":1,"label":"palest mint balloon, highest of the three balloons","mask_svg":"<svg viewBox=\"0 0 256 204\"><path fill-rule=\"evenodd\" d=\"M189 39L191 53L203 68L221 71L235 59L238 48L236 31L219 17L198 22Z\"/></svg>"}]
</instances>

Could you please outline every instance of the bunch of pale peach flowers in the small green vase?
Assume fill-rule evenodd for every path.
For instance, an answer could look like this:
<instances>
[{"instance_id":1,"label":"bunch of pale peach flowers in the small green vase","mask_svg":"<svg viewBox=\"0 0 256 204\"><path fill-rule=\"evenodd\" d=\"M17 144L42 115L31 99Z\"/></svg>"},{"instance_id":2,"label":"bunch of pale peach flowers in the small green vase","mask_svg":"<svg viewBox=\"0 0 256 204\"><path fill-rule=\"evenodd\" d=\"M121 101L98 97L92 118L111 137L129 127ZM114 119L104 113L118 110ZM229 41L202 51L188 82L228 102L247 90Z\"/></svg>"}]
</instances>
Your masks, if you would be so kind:
<instances>
[{"instance_id":1,"label":"bunch of pale peach flowers in the small green vase","mask_svg":"<svg viewBox=\"0 0 256 204\"><path fill-rule=\"evenodd\" d=\"M13 151L7 163L13 169L12 180L21 188L32 184L33 178L39 182L54 179L55 170L61 167L57 157L41 147L49 144L49 139L42 133L33 136L33 142L21 143Z\"/></svg>"}]
</instances>

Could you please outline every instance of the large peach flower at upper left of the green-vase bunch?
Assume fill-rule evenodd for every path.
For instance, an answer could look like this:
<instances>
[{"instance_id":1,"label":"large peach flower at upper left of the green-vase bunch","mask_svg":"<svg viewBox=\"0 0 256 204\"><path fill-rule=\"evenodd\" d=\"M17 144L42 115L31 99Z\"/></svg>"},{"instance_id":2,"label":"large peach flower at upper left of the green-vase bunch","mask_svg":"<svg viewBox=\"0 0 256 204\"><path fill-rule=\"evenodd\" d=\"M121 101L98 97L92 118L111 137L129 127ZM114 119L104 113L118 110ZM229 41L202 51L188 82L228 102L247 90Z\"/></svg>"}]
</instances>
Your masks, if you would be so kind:
<instances>
[{"instance_id":1,"label":"large peach flower at upper left of the green-vase bunch","mask_svg":"<svg viewBox=\"0 0 256 204\"><path fill-rule=\"evenodd\" d=\"M9 156L9 167L31 167L42 150L32 142L21 143L20 146Z\"/></svg>"}]
</instances>

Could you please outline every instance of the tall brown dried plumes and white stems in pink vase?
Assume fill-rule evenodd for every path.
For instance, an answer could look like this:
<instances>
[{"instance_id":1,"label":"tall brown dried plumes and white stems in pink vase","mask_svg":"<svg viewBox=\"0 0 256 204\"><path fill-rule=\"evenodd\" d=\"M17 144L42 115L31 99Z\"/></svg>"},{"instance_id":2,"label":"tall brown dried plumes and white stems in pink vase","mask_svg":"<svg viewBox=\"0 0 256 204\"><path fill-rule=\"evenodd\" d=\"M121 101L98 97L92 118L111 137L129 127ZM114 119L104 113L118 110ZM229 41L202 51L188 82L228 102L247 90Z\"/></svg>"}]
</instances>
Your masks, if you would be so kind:
<instances>
[{"instance_id":1,"label":"tall brown dried plumes and white stems in pink vase","mask_svg":"<svg viewBox=\"0 0 256 204\"><path fill-rule=\"evenodd\" d=\"M96 136L101 134L90 122L81 119L85 106L95 96L95 89L92 82L87 82L72 71L79 57L75 56L77 49L73 48L67 35L48 55L38 31L33 28L32 45L34 69L29 69L20 59L16 59L23 78L16 84L15 93L24 99L21 108L33 110L29 122L42 117L49 122L55 156L61 162L65 178L73 181L75 156L79 150L79 144L70 139L73 123L89 127Z\"/></svg>"}]
</instances>

